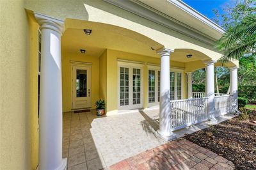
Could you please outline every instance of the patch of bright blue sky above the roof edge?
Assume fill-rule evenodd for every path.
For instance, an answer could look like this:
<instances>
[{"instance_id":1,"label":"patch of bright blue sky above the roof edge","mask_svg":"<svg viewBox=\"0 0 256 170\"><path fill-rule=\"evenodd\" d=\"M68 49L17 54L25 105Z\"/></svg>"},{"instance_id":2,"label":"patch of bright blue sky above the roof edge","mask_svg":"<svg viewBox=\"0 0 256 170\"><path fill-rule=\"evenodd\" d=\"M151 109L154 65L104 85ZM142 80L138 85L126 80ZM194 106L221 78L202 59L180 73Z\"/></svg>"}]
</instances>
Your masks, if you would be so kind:
<instances>
[{"instance_id":1,"label":"patch of bright blue sky above the roof edge","mask_svg":"<svg viewBox=\"0 0 256 170\"><path fill-rule=\"evenodd\" d=\"M230 0L182 0L184 3L188 4L196 11L202 13L207 18L212 19L215 17L213 9L216 9L221 13L223 11L221 8L225 6L225 4L229 3Z\"/></svg>"}]
</instances>

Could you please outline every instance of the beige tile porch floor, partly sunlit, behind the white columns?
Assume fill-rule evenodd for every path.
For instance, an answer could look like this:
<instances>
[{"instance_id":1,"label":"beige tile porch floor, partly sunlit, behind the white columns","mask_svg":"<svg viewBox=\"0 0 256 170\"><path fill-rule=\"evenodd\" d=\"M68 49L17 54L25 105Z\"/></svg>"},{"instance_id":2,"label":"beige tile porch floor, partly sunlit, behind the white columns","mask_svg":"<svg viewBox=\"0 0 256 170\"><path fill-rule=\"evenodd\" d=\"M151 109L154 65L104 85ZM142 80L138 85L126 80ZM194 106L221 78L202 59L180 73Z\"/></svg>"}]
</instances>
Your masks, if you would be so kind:
<instances>
[{"instance_id":1,"label":"beige tile porch floor, partly sunlit, behind the white columns","mask_svg":"<svg viewBox=\"0 0 256 170\"><path fill-rule=\"evenodd\" d=\"M63 157L69 169L101 169L138 155L165 142L154 132L159 126L159 109L96 116L91 112L63 113ZM218 121L232 118L227 115ZM200 123L175 132L177 137L207 127Z\"/></svg>"}]
</instances>

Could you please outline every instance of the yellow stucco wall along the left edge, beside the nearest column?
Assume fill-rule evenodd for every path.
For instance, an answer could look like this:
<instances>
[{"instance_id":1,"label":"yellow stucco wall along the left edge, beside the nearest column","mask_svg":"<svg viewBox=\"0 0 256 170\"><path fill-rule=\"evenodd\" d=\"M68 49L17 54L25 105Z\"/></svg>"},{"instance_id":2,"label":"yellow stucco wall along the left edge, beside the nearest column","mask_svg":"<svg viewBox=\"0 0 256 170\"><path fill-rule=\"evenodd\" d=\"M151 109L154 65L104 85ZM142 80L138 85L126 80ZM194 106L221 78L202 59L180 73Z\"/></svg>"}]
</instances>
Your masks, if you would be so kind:
<instances>
[{"instance_id":1,"label":"yellow stucco wall along the left edge, beside the nearest column","mask_svg":"<svg viewBox=\"0 0 256 170\"><path fill-rule=\"evenodd\" d=\"M0 1L0 15L0 169L36 169L36 26L22 0Z\"/></svg>"}]
</instances>

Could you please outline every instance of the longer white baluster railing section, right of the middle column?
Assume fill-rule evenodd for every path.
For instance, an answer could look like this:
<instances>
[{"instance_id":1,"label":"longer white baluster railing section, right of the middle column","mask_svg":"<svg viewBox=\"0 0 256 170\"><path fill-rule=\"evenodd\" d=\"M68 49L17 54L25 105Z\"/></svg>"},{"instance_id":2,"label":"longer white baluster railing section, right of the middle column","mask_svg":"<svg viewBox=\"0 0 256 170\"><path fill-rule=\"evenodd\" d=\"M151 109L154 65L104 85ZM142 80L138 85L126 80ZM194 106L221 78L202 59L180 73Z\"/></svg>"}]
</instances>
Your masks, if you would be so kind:
<instances>
[{"instance_id":1,"label":"longer white baluster railing section, right of the middle column","mask_svg":"<svg viewBox=\"0 0 256 170\"><path fill-rule=\"evenodd\" d=\"M189 98L171 101L172 130L208 120L207 98Z\"/></svg>"}]
</instances>

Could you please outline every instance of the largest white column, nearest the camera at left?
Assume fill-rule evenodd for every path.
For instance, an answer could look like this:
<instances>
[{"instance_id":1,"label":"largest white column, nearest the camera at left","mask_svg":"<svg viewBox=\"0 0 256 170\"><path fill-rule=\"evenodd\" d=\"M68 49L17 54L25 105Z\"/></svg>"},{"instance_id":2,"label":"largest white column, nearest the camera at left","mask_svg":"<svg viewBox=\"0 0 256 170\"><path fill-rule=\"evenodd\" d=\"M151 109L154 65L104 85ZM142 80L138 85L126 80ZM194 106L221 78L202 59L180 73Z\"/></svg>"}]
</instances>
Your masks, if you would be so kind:
<instances>
[{"instance_id":1,"label":"largest white column, nearest the camera at left","mask_svg":"<svg viewBox=\"0 0 256 170\"><path fill-rule=\"evenodd\" d=\"M39 169L67 169L62 158L61 34L63 21L35 13L42 31Z\"/></svg>"}]
</instances>

